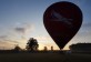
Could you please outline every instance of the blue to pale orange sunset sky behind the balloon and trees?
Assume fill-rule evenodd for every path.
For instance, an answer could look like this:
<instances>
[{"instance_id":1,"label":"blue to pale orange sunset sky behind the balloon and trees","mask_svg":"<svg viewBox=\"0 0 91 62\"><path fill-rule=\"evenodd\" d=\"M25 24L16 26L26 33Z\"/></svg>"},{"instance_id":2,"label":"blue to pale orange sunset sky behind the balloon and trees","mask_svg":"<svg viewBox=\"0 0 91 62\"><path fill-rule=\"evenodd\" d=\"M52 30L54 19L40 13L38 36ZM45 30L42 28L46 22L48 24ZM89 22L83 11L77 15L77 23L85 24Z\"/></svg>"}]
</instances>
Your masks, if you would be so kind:
<instances>
[{"instance_id":1,"label":"blue to pale orange sunset sky behind the balloon and trees","mask_svg":"<svg viewBox=\"0 0 91 62\"><path fill-rule=\"evenodd\" d=\"M59 1L73 2L83 13L81 29L64 50L73 43L91 43L91 0L0 0L0 49L13 49L17 44L24 49L29 38L34 38L39 50L59 50L43 25L46 9Z\"/></svg>"}]
</instances>

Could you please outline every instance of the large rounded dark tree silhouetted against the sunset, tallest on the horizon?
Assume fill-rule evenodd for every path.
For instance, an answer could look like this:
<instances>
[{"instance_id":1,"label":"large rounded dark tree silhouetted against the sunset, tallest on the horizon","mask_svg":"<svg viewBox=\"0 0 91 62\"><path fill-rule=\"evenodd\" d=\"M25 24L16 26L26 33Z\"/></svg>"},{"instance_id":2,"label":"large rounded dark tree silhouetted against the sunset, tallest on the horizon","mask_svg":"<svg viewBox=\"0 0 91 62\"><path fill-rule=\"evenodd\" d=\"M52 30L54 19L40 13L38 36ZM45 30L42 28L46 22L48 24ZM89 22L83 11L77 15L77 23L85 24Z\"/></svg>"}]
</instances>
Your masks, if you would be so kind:
<instances>
[{"instance_id":1,"label":"large rounded dark tree silhouetted against the sunset, tallest on the horizon","mask_svg":"<svg viewBox=\"0 0 91 62\"><path fill-rule=\"evenodd\" d=\"M30 38L27 43L27 50L29 51L37 51L39 48L37 39Z\"/></svg>"}]
</instances>

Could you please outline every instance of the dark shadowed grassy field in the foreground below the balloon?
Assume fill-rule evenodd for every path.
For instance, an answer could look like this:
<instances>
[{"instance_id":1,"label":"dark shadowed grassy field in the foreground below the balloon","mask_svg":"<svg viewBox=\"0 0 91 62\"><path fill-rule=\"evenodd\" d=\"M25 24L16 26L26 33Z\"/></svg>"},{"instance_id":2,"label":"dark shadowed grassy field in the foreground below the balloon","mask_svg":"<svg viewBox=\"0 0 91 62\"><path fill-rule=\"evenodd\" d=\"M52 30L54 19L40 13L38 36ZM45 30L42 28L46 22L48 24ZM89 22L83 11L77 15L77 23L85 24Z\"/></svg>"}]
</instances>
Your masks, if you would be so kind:
<instances>
[{"instance_id":1,"label":"dark shadowed grassy field in the foreground below the balloon","mask_svg":"<svg viewBox=\"0 0 91 62\"><path fill-rule=\"evenodd\" d=\"M61 52L0 53L0 62L91 62L91 54Z\"/></svg>"}]
</instances>

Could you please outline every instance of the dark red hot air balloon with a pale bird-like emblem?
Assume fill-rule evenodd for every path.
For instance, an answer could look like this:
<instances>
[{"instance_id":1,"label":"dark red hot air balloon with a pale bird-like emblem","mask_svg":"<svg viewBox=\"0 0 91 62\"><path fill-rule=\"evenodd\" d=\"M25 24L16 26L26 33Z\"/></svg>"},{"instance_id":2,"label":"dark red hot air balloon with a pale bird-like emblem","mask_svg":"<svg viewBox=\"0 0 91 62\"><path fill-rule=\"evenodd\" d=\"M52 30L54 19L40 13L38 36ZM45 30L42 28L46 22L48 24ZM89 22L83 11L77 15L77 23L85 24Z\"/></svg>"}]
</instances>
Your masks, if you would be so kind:
<instances>
[{"instance_id":1,"label":"dark red hot air balloon with a pale bird-like emblem","mask_svg":"<svg viewBox=\"0 0 91 62\"><path fill-rule=\"evenodd\" d=\"M43 14L43 23L60 49L75 35L82 24L82 11L72 2L51 4Z\"/></svg>"}]
</instances>

